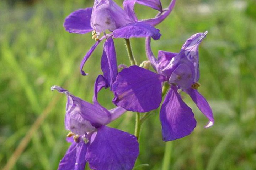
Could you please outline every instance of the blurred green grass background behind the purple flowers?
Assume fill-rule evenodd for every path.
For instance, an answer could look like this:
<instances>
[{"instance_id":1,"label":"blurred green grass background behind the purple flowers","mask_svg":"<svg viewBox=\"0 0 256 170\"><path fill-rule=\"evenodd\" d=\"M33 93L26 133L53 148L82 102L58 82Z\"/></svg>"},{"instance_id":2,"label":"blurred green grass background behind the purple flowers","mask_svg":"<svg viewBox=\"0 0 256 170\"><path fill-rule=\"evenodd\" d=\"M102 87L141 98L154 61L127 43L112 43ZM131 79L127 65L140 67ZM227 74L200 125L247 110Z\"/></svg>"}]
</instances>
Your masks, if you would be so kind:
<instances>
[{"instance_id":1,"label":"blurred green grass background behind the purple flowers","mask_svg":"<svg viewBox=\"0 0 256 170\"><path fill-rule=\"evenodd\" d=\"M14 170L52 170L57 169L69 143L64 128L66 97L50 87L62 86L91 102L95 78L101 74L103 43L85 64L89 76L81 76L80 61L94 41L90 34L65 32L62 24L69 13L90 7L93 1L24 1L0 1L0 169L16 158L11 164ZM161 1L164 7L169 4L169 0ZM122 0L117 3L121 5ZM136 11L140 19L157 13L140 5ZM190 136L172 142L168 169L255 170L256 1L178 0L157 28L162 37L152 42L155 54L158 50L178 52L192 34L208 30L199 47L199 91L212 106L216 122L204 129L207 119L184 96L195 113L197 127ZM144 39L131 41L135 57L142 62ZM124 41L114 42L118 64L129 64ZM112 108L112 98L110 91L100 92L103 106ZM135 115L128 112L110 126L133 133L134 121ZM26 137L25 150L20 150L20 156L14 154L28 133L32 139ZM149 167L137 169L161 170L164 151L156 111L143 124L136 163Z\"/></svg>"}]
</instances>

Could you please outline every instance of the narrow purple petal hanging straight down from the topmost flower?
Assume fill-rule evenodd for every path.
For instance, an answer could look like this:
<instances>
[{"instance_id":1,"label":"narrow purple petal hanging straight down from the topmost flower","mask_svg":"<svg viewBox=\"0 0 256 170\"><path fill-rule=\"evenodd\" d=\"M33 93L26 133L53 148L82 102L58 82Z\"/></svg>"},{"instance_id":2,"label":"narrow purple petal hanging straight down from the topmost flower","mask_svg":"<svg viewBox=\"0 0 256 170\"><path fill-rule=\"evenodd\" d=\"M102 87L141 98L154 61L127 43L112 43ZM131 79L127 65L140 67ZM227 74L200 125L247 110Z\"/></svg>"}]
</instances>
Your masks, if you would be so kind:
<instances>
[{"instance_id":1,"label":"narrow purple petal hanging straight down from the topmost flower","mask_svg":"<svg viewBox=\"0 0 256 170\"><path fill-rule=\"evenodd\" d=\"M117 60L114 41L109 38L104 43L104 50L101 58L101 70L104 77L107 79L108 86L112 89L112 84L117 77Z\"/></svg>"}]
</instances>

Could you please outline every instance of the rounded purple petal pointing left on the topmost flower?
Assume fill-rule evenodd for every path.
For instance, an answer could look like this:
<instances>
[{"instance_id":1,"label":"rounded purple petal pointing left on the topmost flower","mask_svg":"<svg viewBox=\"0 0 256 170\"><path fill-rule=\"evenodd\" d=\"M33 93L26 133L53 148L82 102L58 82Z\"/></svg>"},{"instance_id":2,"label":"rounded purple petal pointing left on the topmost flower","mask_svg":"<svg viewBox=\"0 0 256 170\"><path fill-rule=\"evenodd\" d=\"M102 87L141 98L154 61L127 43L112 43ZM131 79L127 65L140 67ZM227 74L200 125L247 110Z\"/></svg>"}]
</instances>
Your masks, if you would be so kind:
<instances>
[{"instance_id":1,"label":"rounded purple petal pointing left on the topmost flower","mask_svg":"<svg viewBox=\"0 0 256 170\"><path fill-rule=\"evenodd\" d=\"M70 33L85 34L91 32L92 8L80 9L66 17L64 27Z\"/></svg>"}]
</instances>

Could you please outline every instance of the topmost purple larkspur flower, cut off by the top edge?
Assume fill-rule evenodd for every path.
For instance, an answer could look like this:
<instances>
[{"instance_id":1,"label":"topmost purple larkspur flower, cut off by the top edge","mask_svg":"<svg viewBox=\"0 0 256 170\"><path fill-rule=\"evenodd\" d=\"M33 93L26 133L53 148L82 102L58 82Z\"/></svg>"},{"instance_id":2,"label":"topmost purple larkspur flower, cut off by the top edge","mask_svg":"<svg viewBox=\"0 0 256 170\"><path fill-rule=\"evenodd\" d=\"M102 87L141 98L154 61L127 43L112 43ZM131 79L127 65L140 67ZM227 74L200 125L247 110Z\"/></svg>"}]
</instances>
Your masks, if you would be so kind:
<instances>
[{"instance_id":1,"label":"topmost purple larkspur flower, cut off by the top edge","mask_svg":"<svg viewBox=\"0 0 256 170\"><path fill-rule=\"evenodd\" d=\"M84 64L103 39L148 36L154 40L159 39L161 34L153 26L162 22L170 14L175 1L172 0L169 7L163 10L160 0L124 0L124 9L113 0L95 0L92 8L72 12L65 19L65 29L70 33L78 34L92 32L92 38L97 40L80 64L81 74L87 75L83 71ZM160 13L155 18L138 21L134 12L135 3L151 7ZM106 30L111 33L106 34ZM99 38L101 32L104 32L105 35Z\"/></svg>"}]
</instances>

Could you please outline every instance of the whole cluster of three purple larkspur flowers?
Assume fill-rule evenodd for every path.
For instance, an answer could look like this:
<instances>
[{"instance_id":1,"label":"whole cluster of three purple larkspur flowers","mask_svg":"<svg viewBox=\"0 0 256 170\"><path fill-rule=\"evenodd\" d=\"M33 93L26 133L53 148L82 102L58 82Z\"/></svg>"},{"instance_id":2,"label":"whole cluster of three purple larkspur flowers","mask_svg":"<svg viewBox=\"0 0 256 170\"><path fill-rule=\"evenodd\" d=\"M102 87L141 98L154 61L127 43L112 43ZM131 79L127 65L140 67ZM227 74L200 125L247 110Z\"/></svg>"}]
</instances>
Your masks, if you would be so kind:
<instances>
[{"instance_id":1,"label":"whole cluster of three purple larkspur flowers","mask_svg":"<svg viewBox=\"0 0 256 170\"><path fill-rule=\"evenodd\" d=\"M155 58L150 41L160 39L155 28L171 13L176 0L162 8L160 0L124 0L123 8L113 0L95 0L92 8L80 9L66 17L65 29L70 33L92 32L95 44L80 64L80 72L101 41L103 53L101 70L94 85L93 103L84 101L68 90L53 86L67 96L65 128L71 143L60 161L59 170L84 170L86 163L94 170L132 170L139 155L138 136L107 126L126 111L150 112L162 102L162 88L169 90L160 108L163 141L171 141L191 134L196 120L190 107L182 100L180 92L187 93L202 113L209 119L206 127L214 124L212 110L206 99L197 91L199 87L198 46L207 32L192 35L179 53L159 51ZM138 20L135 4L159 11L155 18ZM108 34L106 32L109 32ZM115 38L146 38L146 55L154 71L148 66L122 66L118 73ZM123 56L122 56L123 57ZM98 92L110 88L117 106L106 109L97 101Z\"/></svg>"}]
</instances>

